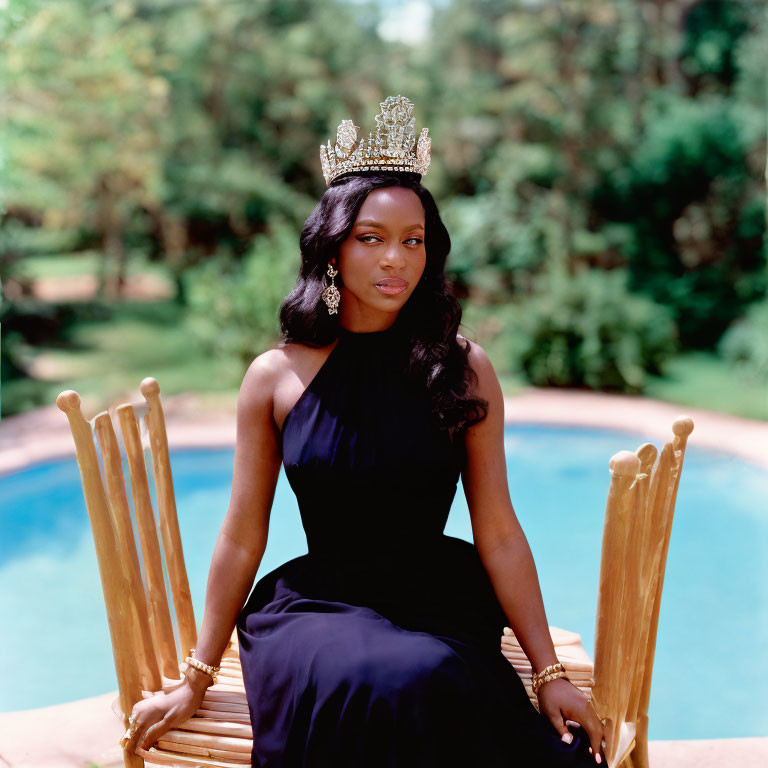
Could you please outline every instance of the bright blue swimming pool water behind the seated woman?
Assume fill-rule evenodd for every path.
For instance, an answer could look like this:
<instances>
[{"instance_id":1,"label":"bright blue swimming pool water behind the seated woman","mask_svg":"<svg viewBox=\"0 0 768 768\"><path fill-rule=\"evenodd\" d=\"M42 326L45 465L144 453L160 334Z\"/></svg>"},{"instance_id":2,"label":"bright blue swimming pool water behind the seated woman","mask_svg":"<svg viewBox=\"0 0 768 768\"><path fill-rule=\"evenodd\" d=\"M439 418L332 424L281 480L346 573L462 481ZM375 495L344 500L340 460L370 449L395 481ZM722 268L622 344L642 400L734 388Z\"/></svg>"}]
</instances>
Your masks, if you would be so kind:
<instances>
[{"instance_id":1,"label":"bright blue swimming pool water behind the seated woman","mask_svg":"<svg viewBox=\"0 0 768 768\"><path fill-rule=\"evenodd\" d=\"M698 449L695 438L694 431L669 547L650 738L768 736L768 473ZM608 459L646 440L607 430L506 429L510 494L548 621L579 632L592 658ZM233 451L174 451L171 462L199 624ZM472 540L461 486L446 533ZM304 552L295 497L281 472L257 578ZM117 688L74 459L0 477L0 668L0 712Z\"/></svg>"}]
</instances>

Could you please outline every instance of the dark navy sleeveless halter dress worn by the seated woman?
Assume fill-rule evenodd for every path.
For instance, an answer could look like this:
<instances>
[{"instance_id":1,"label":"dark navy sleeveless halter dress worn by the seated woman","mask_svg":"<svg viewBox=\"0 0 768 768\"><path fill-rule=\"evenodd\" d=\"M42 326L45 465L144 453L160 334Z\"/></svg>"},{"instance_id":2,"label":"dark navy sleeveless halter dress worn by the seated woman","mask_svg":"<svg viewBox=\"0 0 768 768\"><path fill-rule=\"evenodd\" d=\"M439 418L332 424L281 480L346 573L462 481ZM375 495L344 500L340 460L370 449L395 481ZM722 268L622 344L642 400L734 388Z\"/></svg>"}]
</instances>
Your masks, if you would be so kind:
<instances>
[{"instance_id":1,"label":"dark navy sleeveless halter dress worn by the seated woman","mask_svg":"<svg viewBox=\"0 0 768 768\"><path fill-rule=\"evenodd\" d=\"M407 378L408 343L339 330L285 418L308 553L237 618L261 768L595 766L501 653L509 625L477 549L443 533L462 448Z\"/></svg>"}]
</instances>

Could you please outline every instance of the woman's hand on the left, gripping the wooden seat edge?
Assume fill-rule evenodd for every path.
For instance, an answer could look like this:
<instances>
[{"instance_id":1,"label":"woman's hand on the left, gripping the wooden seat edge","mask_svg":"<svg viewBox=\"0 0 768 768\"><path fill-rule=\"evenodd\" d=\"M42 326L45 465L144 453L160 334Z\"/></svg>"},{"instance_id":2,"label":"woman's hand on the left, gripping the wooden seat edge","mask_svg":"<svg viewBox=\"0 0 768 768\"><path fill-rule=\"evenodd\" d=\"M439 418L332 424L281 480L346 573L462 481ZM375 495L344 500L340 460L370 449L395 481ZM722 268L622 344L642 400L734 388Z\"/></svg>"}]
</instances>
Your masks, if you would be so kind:
<instances>
[{"instance_id":1,"label":"woman's hand on the left, gripping the wooden seat edge","mask_svg":"<svg viewBox=\"0 0 768 768\"><path fill-rule=\"evenodd\" d=\"M134 753L137 747L149 749L171 728L181 725L200 709L206 688L199 685L193 687L185 678L168 693L158 691L147 699L137 701L131 711L135 730L133 735L130 735L130 729L126 731L120 745Z\"/></svg>"}]
</instances>

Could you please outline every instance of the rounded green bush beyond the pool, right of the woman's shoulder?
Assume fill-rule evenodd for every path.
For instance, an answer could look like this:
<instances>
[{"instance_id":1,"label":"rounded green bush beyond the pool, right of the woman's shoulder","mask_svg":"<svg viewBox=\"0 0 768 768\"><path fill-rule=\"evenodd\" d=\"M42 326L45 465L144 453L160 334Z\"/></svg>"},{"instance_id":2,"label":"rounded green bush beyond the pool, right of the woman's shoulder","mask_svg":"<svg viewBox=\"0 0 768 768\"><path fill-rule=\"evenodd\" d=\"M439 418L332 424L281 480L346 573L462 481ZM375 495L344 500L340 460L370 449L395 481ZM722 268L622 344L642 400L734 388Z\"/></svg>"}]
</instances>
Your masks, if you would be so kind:
<instances>
[{"instance_id":1,"label":"rounded green bush beyond the pool, right of the woman's shoulder","mask_svg":"<svg viewBox=\"0 0 768 768\"><path fill-rule=\"evenodd\" d=\"M536 386L641 392L676 351L664 307L626 289L626 272L584 270L536 281L535 292L499 310L506 365Z\"/></svg>"}]
</instances>

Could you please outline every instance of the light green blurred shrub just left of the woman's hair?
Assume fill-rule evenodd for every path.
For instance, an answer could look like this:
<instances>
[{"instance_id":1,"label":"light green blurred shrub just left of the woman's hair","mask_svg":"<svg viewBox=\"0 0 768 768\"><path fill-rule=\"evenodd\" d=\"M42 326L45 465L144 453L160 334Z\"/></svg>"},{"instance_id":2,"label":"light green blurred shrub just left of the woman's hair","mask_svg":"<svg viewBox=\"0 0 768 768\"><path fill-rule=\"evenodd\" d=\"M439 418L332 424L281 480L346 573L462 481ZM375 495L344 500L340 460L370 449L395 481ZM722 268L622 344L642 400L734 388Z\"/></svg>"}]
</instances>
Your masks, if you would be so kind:
<instances>
[{"instance_id":1,"label":"light green blurred shrub just left of the woman's hair","mask_svg":"<svg viewBox=\"0 0 768 768\"><path fill-rule=\"evenodd\" d=\"M298 232L276 220L240 262L220 256L188 270L190 327L210 352L247 366L280 337L277 312L299 264Z\"/></svg>"}]
</instances>

